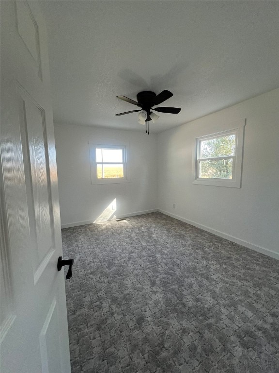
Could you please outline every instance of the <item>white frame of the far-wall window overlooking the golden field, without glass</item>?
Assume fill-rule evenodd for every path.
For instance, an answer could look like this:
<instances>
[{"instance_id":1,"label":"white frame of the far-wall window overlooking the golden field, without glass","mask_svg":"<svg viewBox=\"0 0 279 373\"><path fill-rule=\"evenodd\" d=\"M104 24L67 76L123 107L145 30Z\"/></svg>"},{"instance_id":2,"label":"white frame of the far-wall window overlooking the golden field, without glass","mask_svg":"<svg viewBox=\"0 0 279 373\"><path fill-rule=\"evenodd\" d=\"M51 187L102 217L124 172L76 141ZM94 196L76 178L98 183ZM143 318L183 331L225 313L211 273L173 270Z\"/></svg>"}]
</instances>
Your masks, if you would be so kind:
<instances>
[{"instance_id":1,"label":"white frame of the far-wall window overlooking the golden field, without glass","mask_svg":"<svg viewBox=\"0 0 279 373\"><path fill-rule=\"evenodd\" d=\"M91 141L89 142L89 153L90 153L90 172L91 172L91 184L98 185L98 184L119 184L119 183L129 183L130 175L129 175L129 168L127 165L127 146L126 145L115 145L115 144L93 144ZM106 178L106 179L98 179L97 178L97 163L100 164L121 164L121 162L97 162L96 160L96 148L101 149L121 149L123 152L123 173L124 177L113 177L113 178Z\"/></svg>"}]
</instances>

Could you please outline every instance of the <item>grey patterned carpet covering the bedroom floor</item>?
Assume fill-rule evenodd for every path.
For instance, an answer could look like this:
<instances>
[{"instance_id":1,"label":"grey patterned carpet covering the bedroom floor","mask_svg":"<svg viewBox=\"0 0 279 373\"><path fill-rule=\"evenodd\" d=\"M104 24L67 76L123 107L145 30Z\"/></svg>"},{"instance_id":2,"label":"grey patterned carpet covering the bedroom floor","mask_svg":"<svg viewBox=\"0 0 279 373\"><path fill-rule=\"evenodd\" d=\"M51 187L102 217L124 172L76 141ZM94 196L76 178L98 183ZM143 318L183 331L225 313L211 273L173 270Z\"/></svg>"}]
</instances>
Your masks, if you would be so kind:
<instances>
[{"instance_id":1,"label":"grey patterned carpet covering the bedroom floor","mask_svg":"<svg viewBox=\"0 0 279 373\"><path fill-rule=\"evenodd\" d=\"M279 373L279 261L160 213L62 230L72 373Z\"/></svg>"}]
</instances>

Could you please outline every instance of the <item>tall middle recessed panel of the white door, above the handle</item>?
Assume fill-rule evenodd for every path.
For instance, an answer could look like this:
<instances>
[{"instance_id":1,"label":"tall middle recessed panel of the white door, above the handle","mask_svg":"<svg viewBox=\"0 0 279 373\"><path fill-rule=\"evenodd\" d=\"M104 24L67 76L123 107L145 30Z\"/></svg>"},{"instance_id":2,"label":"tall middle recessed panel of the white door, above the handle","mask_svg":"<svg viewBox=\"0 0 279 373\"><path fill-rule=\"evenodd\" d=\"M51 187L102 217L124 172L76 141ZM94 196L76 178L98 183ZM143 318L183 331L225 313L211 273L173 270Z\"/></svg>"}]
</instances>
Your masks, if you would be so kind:
<instances>
[{"instance_id":1,"label":"tall middle recessed panel of the white door, above the handle","mask_svg":"<svg viewBox=\"0 0 279 373\"><path fill-rule=\"evenodd\" d=\"M19 123L27 188L29 225L32 231L32 263L36 281L43 259L53 252L53 219L47 160L45 110L19 90ZM35 281L35 282L36 282Z\"/></svg>"}]
</instances>

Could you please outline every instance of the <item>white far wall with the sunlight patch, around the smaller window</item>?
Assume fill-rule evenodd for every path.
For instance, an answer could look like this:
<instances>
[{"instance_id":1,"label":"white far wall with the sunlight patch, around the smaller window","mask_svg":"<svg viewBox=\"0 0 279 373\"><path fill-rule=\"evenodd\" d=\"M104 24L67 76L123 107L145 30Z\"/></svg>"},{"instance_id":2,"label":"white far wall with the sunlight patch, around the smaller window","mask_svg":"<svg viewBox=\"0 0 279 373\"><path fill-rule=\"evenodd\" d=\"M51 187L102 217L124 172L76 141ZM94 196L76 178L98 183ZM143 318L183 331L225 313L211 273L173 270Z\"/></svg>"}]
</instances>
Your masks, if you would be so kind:
<instances>
[{"instance_id":1,"label":"white far wall with the sunlight patch, around the smaller window","mask_svg":"<svg viewBox=\"0 0 279 373\"><path fill-rule=\"evenodd\" d=\"M62 227L90 223L116 198L116 217L157 208L157 136L55 124ZM129 146L130 182L91 185L88 140Z\"/></svg>"}]
</instances>

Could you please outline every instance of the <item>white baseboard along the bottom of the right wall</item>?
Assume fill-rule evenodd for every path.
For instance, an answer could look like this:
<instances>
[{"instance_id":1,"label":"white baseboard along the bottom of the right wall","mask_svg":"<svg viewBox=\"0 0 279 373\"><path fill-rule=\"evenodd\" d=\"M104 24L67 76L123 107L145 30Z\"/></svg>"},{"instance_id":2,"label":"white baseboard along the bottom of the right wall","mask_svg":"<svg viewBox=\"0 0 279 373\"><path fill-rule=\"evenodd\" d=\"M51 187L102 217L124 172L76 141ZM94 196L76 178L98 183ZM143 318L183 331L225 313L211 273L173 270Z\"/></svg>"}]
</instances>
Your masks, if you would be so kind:
<instances>
[{"instance_id":1,"label":"white baseboard along the bottom of the right wall","mask_svg":"<svg viewBox=\"0 0 279 373\"><path fill-rule=\"evenodd\" d=\"M203 229L204 231L207 231L207 232L213 233L213 234L216 235L216 236L219 236L219 237L222 237L222 238L228 239L229 241L232 241L232 242L238 243L239 245L245 246L245 247L247 247L248 249L251 249L251 250L257 251L258 253L265 254L265 255L267 255L267 256L271 256L272 258L275 258L275 259L279 259L279 253L276 253L275 251L272 251L272 250L266 249L266 248L261 247L261 246L254 245L253 243L247 242L247 241L245 241L245 240L243 240L243 239L240 239L240 238L237 238L237 237L233 237L233 236L228 235L228 234L226 234L226 233L224 233L224 232L217 231L216 229L213 229L213 228L207 227L206 225L202 225L202 224L197 223L197 222L195 222L195 221L185 219L185 218L183 218L182 216L175 215L175 214L171 214L171 213L168 212L168 211L164 211L164 210L161 210L161 209L158 209L157 211L161 212L162 214L168 215L168 216L170 216L171 218L174 218L174 219L177 219L177 220L184 221L185 223L188 223L188 224L190 224L190 225L194 225L195 227L197 227L197 228L201 228L201 229Z\"/></svg>"}]
</instances>

